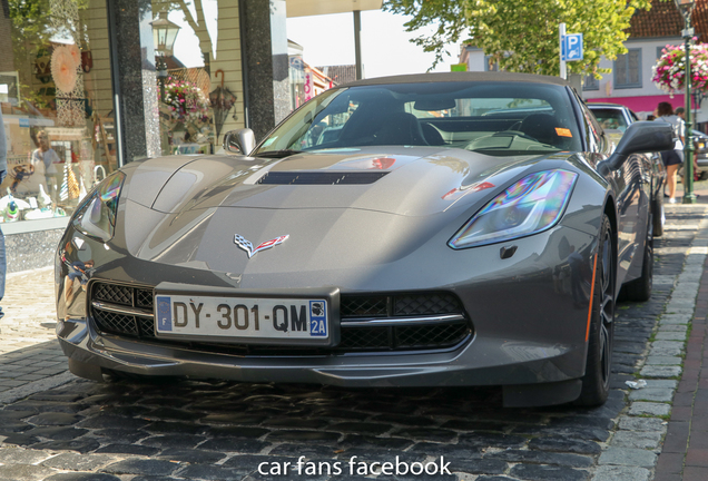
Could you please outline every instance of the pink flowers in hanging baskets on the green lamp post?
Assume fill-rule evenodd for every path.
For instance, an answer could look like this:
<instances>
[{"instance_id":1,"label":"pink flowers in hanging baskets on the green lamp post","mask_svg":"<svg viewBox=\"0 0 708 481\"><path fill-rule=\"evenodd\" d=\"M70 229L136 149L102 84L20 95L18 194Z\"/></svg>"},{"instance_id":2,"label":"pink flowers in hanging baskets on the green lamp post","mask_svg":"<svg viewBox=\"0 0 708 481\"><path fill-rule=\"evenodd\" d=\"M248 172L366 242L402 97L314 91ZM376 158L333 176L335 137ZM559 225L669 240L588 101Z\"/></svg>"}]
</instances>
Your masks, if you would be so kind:
<instances>
[{"instance_id":1,"label":"pink flowers in hanging baskets on the green lamp post","mask_svg":"<svg viewBox=\"0 0 708 481\"><path fill-rule=\"evenodd\" d=\"M708 45L690 46L691 86L697 90L708 87ZM686 85L686 50L681 46L666 46L651 79L661 90L673 94Z\"/></svg>"}]
</instances>

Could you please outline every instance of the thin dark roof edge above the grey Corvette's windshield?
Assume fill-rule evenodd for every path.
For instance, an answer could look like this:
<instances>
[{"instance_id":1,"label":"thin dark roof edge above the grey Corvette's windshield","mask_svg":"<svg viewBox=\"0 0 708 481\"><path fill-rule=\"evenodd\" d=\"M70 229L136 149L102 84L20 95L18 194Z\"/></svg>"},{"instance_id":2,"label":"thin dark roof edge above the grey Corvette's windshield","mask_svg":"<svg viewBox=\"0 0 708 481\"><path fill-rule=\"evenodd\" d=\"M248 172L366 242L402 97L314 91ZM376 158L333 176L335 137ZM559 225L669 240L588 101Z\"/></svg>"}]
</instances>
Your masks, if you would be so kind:
<instances>
[{"instance_id":1,"label":"thin dark roof edge above the grey Corvette's windshield","mask_svg":"<svg viewBox=\"0 0 708 481\"><path fill-rule=\"evenodd\" d=\"M530 82L530 84L554 84L569 86L560 77L540 76L532 73L509 73L509 72L443 72L443 73L415 73L391 77L377 77L365 80L356 80L344 84L340 87L390 85L390 84L425 84L425 82L450 82L450 81L491 81L491 82Z\"/></svg>"}]
</instances>

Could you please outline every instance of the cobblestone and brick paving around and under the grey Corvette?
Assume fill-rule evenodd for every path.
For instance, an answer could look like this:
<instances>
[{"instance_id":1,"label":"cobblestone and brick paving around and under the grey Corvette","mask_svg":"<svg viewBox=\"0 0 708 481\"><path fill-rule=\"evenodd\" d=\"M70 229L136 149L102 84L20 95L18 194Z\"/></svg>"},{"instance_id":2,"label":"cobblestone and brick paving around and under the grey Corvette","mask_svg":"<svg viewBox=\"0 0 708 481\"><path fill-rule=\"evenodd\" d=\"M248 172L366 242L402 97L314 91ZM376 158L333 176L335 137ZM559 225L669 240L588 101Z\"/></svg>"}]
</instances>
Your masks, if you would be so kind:
<instances>
[{"instance_id":1,"label":"cobblestone and brick paving around and under the grey Corvette","mask_svg":"<svg viewBox=\"0 0 708 481\"><path fill-rule=\"evenodd\" d=\"M493 389L77 380L55 340L52 269L10 275L0 321L0 481L364 479L346 469L257 470L299 455L345 468L352 457L451 462L451 475L366 475L401 481L706 480L697 468L708 459L700 371L708 276L699 284L708 206L667 210L655 295L618 305L612 391L593 410L502 409Z\"/></svg>"}]
</instances>

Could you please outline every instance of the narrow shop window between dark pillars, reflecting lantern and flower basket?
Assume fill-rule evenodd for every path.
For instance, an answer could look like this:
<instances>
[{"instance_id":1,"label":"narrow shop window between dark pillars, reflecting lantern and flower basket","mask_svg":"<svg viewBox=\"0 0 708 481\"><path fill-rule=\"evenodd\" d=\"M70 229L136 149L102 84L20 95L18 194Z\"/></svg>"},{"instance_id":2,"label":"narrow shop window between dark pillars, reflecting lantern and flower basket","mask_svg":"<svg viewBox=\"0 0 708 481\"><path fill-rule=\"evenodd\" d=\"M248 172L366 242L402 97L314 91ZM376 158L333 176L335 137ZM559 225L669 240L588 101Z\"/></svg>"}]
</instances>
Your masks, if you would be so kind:
<instances>
[{"instance_id":1,"label":"narrow shop window between dark pillars, reflecting lantern and flower basket","mask_svg":"<svg viewBox=\"0 0 708 481\"><path fill-rule=\"evenodd\" d=\"M161 155L213 154L244 126L238 2L151 2ZM146 41L147 40L147 41ZM150 40L153 40L150 42Z\"/></svg>"}]
</instances>

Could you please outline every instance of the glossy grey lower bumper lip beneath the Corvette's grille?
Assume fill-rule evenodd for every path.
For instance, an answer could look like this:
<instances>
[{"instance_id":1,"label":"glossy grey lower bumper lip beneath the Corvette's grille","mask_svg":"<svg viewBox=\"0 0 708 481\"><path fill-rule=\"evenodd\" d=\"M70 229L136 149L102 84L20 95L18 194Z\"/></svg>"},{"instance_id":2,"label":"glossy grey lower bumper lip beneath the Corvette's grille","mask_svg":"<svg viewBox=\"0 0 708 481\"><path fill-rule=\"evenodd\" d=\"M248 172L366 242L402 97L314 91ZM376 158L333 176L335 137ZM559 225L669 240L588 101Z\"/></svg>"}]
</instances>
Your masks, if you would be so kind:
<instances>
[{"instance_id":1,"label":"glossy grey lower bumper lip beneath the Corvette's grille","mask_svg":"<svg viewBox=\"0 0 708 481\"><path fill-rule=\"evenodd\" d=\"M104 372L347 387L470 386L580 377L584 346L475 338L455 350L395 355L235 356L100 335L90 322L59 322L65 354Z\"/></svg>"}]
</instances>

